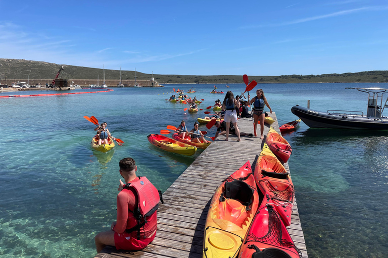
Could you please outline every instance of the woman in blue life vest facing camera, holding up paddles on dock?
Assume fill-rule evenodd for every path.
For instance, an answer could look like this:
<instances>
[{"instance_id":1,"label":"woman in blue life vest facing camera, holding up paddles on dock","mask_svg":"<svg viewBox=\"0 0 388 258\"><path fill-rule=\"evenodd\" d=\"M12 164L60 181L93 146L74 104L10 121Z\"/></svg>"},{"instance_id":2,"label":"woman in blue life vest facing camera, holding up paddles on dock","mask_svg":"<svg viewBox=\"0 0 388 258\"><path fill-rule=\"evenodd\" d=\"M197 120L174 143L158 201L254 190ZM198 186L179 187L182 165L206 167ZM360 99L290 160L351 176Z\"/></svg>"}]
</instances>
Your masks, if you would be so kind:
<instances>
[{"instance_id":1,"label":"woman in blue life vest facing camera, holding up paddles on dock","mask_svg":"<svg viewBox=\"0 0 388 258\"><path fill-rule=\"evenodd\" d=\"M260 139L264 139L263 133L264 133L264 119L265 119L265 114L264 114L264 107L267 105L269 108L269 111L272 114L272 109L268 104L267 98L264 96L264 92L262 89L258 89L256 91L256 96L254 99L250 99L250 95L248 95L248 103L253 104L253 128L255 132L255 137L257 137L256 134L256 128L258 121L260 120Z\"/></svg>"}]
</instances>

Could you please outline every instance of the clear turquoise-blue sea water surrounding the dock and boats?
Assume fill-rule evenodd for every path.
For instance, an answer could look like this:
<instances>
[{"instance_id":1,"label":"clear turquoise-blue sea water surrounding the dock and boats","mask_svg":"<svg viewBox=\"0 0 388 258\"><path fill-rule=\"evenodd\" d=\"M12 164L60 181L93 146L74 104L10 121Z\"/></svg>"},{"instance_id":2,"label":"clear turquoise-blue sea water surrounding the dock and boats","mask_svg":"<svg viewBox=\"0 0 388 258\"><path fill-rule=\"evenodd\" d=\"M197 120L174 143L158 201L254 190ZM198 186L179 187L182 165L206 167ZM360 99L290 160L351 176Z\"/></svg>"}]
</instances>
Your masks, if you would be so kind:
<instances>
[{"instance_id":1,"label":"clear turquoise-blue sea water surrounding the dock and boats","mask_svg":"<svg viewBox=\"0 0 388 258\"><path fill-rule=\"evenodd\" d=\"M234 95L246 88L216 86ZM307 106L307 100L319 111L365 113L367 94L346 87L388 88L388 84L256 86L264 90L279 125L297 119L290 108ZM184 104L165 101L178 88L195 88L197 92L189 96L204 99L199 105L204 111L225 96L210 94L213 84L167 84L0 98L0 256L93 257L94 236L109 230L116 217L122 158L134 158L137 174L166 190L201 154L186 157L159 151L147 140L167 125L177 126L183 119L191 126L204 116L203 111L188 114ZM80 91L91 90L75 92ZM0 95L8 94L36 93ZM93 151L89 144L95 125L85 115L107 122L112 135L125 144L106 154ZM208 135L214 134L212 128ZM387 257L388 131L318 129L302 122L285 138L294 150L289 167L309 257Z\"/></svg>"}]
</instances>

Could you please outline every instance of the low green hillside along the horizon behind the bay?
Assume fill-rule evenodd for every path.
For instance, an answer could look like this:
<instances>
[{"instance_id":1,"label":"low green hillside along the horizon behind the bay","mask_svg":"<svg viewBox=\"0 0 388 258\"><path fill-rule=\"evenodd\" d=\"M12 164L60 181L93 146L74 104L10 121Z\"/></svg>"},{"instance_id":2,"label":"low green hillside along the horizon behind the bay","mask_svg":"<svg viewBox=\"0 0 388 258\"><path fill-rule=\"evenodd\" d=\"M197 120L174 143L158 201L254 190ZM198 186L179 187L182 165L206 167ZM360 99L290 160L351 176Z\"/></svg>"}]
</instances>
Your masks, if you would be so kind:
<instances>
[{"instance_id":1,"label":"low green hillside along the horizon behind the bay","mask_svg":"<svg viewBox=\"0 0 388 258\"><path fill-rule=\"evenodd\" d=\"M15 80L33 79L54 79L58 70L64 67L61 73L62 79L103 79L103 69L68 66L41 61L24 59L1 59L0 58L0 82ZM259 73L259 72L258 72ZM123 80L134 80L134 71L121 71ZM150 80L151 74L136 72L137 80ZM354 83L354 82L388 82L388 71L368 71L345 74L323 74L323 75L279 75L279 76L252 76L250 80L258 83ZM105 70L106 80L119 80L119 70ZM243 83L241 75L159 75L154 74L155 80L159 83Z\"/></svg>"}]
</instances>

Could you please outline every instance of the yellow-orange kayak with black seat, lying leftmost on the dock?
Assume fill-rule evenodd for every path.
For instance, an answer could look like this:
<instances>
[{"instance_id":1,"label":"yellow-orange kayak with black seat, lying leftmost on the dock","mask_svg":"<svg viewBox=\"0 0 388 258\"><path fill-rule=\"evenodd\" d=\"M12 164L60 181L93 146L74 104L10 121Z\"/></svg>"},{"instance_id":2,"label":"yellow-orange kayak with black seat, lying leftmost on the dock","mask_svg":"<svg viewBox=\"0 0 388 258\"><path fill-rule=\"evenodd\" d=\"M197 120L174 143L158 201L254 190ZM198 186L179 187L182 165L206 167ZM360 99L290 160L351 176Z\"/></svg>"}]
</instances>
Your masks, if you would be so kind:
<instances>
[{"instance_id":1,"label":"yellow-orange kayak with black seat, lying leftmost on the dock","mask_svg":"<svg viewBox=\"0 0 388 258\"><path fill-rule=\"evenodd\" d=\"M205 223L203 257L237 257L258 206L259 194L247 161L214 193Z\"/></svg>"}]
</instances>

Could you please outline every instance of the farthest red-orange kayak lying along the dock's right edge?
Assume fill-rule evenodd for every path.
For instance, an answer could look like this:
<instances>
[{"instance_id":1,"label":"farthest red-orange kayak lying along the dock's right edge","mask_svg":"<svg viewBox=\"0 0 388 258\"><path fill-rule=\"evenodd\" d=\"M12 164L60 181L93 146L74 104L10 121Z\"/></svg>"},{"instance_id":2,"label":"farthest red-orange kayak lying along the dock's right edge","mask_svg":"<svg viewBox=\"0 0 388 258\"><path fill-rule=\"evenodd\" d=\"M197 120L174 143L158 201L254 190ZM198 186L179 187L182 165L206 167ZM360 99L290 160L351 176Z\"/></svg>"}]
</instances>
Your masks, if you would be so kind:
<instances>
[{"instance_id":1,"label":"farthest red-orange kayak lying along the dock's right edge","mask_svg":"<svg viewBox=\"0 0 388 258\"><path fill-rule=\"evenodd\" d=\"M281 159L283 163L287 162L289 156L293 153L293 149L281 135L279 135L271 126L268 131L265 143L271 149L271 151Z\"/></svg>"}]
</instances>

